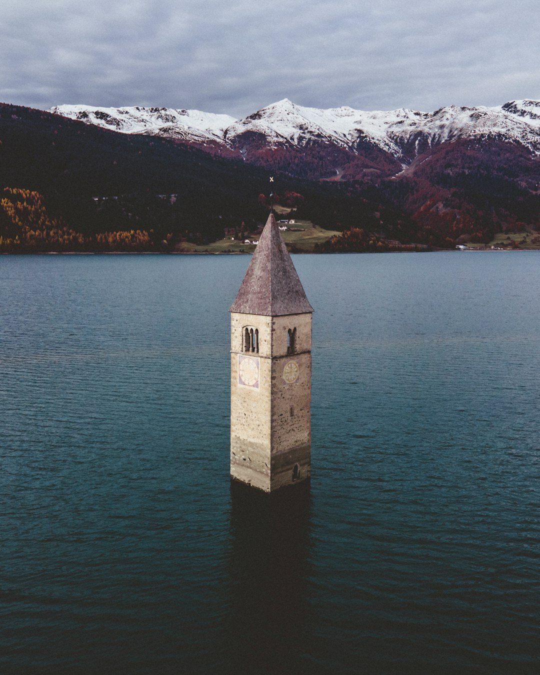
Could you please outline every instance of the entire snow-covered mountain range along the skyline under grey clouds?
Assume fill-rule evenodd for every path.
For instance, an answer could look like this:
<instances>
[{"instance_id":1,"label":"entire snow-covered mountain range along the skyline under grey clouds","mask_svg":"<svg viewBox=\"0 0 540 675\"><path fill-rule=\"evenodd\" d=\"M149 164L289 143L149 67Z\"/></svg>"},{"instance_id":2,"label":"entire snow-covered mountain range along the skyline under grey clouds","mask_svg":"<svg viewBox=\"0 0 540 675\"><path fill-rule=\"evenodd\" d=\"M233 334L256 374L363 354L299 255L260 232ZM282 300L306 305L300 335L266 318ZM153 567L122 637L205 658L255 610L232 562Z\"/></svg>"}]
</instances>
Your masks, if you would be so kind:
<instances>
[{"instance_id":1,"label":"entire snow-covered mountain range along the skyline under grey clouds","mask_svg":"<svg viewBox=\"0 0 540 675\"><path fill-rule=\"evenodd\" d=\"M458 138L505 140L540 153L540 101L532 100L495 107L450 105L425 113L406 108L319 109L283 99L240 120L196 110L139 106L59 105L51 112L126 134L167 136L203 146L211 142L244 158L254 145L260 150L322 144L359 153L368 143L408 163L427 149Z\"/></svg>"}]
</instances>

